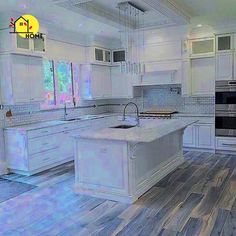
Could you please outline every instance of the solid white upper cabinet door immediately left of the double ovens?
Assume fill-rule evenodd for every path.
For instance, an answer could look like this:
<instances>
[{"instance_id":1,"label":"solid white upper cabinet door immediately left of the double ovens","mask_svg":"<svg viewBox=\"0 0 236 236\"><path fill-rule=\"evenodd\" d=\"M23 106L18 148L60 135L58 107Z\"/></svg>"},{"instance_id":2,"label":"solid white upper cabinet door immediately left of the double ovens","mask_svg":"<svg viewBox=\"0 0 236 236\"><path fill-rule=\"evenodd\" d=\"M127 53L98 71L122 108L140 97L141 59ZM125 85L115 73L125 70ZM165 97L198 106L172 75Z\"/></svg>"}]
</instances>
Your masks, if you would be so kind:
<instances>
[{"instance_id":1,"label":"solid white upper cabinet door immediately left of the double ovens","mask_svg":"<svg viewBox=\"0 0 236 236\"><path fill-rule=\"evenodd\" d=\"M192 95L215 95L215 58L192 60Z\"/></svg>"}]
</instances>

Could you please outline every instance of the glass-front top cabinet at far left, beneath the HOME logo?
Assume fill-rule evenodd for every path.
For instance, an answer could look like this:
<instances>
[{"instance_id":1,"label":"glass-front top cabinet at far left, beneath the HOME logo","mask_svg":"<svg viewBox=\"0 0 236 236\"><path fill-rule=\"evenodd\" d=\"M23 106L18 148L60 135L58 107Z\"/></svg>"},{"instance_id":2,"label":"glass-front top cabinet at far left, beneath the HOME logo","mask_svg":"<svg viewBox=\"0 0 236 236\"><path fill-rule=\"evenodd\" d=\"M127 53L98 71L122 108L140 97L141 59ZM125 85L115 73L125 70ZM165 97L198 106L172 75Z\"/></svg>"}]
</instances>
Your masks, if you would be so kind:
<instances>
[{"instance_id":1,"label":"glass-front top cabinet at far left, beneath the HOME logo","mask_svg":"<svg viewBox=\"0 0 236 236\"><path fill-rule=\"evenodd\" d=\"M46 52L46 35L39 35L37 38L22 38L18 34L3 30L0 32L0 52L42 55Z\"/></svg>"}]
</instances>

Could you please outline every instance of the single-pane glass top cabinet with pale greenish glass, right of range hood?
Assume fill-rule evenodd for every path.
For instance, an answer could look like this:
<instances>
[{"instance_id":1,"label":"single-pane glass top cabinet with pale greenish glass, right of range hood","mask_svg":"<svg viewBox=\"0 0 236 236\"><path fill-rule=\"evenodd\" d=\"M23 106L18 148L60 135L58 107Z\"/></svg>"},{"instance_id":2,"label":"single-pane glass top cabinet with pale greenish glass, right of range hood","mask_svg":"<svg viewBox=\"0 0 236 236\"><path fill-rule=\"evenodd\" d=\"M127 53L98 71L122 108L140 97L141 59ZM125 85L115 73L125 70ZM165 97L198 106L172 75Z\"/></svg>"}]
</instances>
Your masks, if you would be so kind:
<instances>
[{"instance_id":1,"label":"single-pane glass top cabinet with pale greenish glass, right of range hood","mask_svg":"<svg viewBox=\"0 0 236 236\"><path fill-rule=\"evenodd\" d=\"M192 39L190 42L190 57L214 57L215 38Z\"/></svg>"}]
</instances>

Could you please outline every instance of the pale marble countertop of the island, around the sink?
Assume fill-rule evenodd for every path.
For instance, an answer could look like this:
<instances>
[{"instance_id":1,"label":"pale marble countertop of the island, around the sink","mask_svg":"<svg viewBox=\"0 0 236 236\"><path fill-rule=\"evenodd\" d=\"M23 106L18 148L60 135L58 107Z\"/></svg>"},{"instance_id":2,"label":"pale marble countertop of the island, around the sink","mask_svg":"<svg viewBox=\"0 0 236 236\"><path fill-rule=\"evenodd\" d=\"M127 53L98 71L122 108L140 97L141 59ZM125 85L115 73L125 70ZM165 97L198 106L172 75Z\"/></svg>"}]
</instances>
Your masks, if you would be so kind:
<instances>
[{"instance_id":1,"label":"pale marble countertop of the island, around the sink","mask_svg":"<svg viewBox=\"0 0 236 236\"><path fill-rule=\"evenodd\" d=\"M198 120L141 120L140 127L129 129L104 128L74 135L75 139L103 139L126 142L153 142L165 135L186 128ZM121 123L120 123L121 124Z\"/></svg>"}]
</instances>

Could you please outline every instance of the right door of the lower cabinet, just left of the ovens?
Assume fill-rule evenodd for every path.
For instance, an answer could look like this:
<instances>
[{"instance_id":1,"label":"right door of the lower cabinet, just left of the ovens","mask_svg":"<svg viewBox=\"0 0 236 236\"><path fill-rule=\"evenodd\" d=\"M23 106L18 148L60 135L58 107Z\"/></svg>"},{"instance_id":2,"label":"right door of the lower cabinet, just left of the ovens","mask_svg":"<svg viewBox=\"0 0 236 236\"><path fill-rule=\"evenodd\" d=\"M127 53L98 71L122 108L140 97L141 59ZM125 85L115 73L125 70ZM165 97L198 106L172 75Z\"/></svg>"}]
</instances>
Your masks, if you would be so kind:
<instances>
[{"instance_id":1,"label":"right door of the lower cabinet, just left of the ovens","mask_svg":"<svg viewBox=\"0 0 236 236\"><path fill-rule=\"evenodd\" d=\"M214 148L214 127L213 124L197 124L197 146L199 148Z\"/></svg>"}]
</instances>

